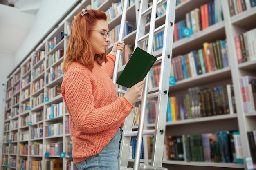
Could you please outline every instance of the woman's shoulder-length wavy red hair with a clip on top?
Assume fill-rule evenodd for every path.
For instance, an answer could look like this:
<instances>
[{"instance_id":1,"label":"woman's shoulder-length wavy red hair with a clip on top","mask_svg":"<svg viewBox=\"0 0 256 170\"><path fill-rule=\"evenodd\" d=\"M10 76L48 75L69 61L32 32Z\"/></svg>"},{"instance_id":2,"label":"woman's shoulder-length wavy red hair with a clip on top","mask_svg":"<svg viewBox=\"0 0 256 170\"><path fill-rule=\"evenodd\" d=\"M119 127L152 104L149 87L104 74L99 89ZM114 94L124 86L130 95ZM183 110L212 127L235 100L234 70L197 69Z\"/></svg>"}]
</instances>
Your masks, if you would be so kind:
<instances>
[{"instance_id":1,"label":"woman's shoulder-length wavy red hair with a clip on top","mask_svg":"<svg viewBox=\"0 0 256 170\"><path fill-rule=\"evenodd\" d=\"M81 16L81 13L78 13L74 18L71 30L70 38L67 44L67 51L64 59L64 64L62 71L67 71L68 66L72 62L79 62L84 66L92 70L94 66L94 60L98 64L107 62L107 52L104 54L95 54L92 50L92 45L89 42L89 37L92 32L92 26L95 25L97 20L107 20L107 16L104 12L90 9L87 10L88 14Z\"/></svg>"}]
</instances>

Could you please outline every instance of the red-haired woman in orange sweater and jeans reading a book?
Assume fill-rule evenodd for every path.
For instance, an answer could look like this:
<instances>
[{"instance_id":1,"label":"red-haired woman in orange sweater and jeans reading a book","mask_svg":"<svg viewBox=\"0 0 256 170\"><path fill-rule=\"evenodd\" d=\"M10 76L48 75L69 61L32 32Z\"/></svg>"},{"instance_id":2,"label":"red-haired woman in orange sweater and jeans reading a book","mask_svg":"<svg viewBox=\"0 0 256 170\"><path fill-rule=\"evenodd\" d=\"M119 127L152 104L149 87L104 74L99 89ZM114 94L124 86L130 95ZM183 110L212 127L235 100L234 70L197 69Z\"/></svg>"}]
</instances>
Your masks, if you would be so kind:
<instances>
[{"instance_id":1,"label":"red-haired woman in orange sweater and jeans reading a book","mask_svg":"<svg viewBox=\"0 0 256 170\"><path fill-rule=\"evenodd\" d=\"M82 10L74 19L61 94L69 113L72 157L79 170L118 170L121 126L142 91L144 80L119 98L111 80L117 42L107 55L110 32L104 12ZM103 64L104 63L104 64Z\"/></svg>"}]
</instances>

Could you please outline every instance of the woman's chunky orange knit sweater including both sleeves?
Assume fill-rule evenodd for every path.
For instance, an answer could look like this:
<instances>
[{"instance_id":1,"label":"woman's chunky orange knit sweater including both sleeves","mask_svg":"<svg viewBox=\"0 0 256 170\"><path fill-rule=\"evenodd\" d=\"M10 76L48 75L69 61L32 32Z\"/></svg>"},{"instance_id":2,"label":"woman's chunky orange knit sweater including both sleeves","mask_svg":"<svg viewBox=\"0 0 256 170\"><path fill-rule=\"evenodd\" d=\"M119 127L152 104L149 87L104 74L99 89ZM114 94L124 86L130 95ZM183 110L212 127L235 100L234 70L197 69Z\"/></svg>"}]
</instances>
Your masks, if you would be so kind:
<instances>
[{"instance_id":1,"label":"woman's chunky orange knit sweater including both sleeves","mask_svg":"<svg viewBox=\"0 0 256 170\"><path fill-rule=\"evenodd\" d=\"M103 66L94 62L92 71L73 62L63 77L61 94L69 113L75 163L98 154L133 108L125 97L118 97L110 78L115 56L107 57Z\"/></svg>"}]
</instances>

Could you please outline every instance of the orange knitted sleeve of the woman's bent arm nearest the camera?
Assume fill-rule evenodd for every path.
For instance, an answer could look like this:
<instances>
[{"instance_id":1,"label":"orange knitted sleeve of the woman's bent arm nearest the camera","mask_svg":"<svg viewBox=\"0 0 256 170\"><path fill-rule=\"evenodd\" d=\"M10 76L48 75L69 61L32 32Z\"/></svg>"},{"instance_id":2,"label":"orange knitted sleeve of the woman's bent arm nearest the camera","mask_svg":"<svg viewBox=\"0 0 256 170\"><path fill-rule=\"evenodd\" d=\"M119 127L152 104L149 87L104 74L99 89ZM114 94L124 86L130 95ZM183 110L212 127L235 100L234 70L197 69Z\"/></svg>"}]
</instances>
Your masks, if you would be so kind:
<instances>
[{"instance_id":1,"label":"orange knitted sleeve of the woman's bent arm nearest the camera","mask_svg":"<svg viewBox=\"0 0 256 170\"><path fill-rule=\"evenodd\" d=\"M93 82L85 73L72 71L64 78L61 93L74 124L81 132L96 133L121 125L133 108L125 97L95 108L94 97L97 96L92 94Z\"/></svg>"}]
</instances>

